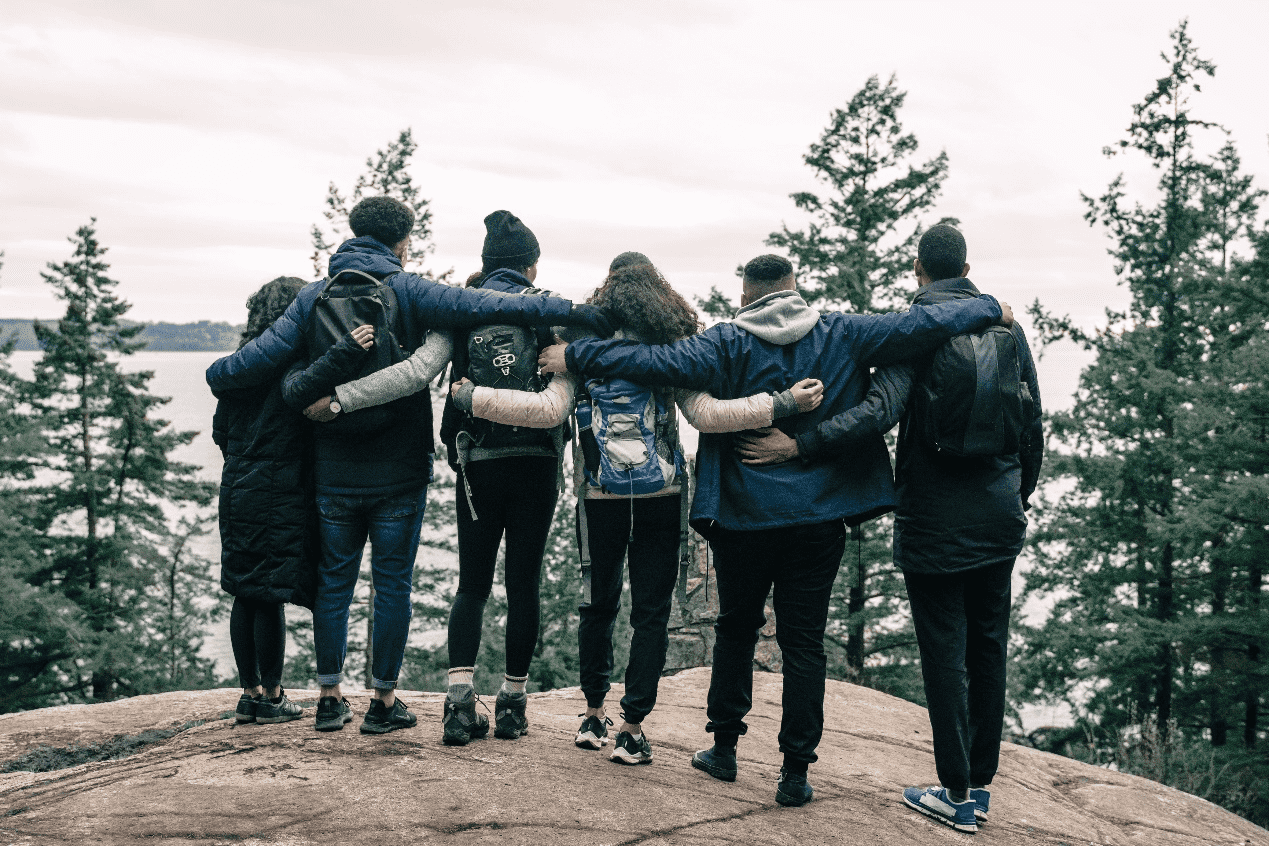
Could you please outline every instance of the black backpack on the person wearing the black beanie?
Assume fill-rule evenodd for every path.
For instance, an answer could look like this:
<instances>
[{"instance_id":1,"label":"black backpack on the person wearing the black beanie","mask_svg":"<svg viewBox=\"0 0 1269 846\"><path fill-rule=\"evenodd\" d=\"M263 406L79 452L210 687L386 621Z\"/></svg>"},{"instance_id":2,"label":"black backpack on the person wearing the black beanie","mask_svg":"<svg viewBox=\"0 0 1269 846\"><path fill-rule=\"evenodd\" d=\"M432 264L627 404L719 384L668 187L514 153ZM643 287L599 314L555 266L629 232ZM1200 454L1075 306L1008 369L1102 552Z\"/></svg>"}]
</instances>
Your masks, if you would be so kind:
<instances>
[{"instance_id":1,"label":"black backpack on the person wearing the black beanie","mask_svg":"<svg viewBox=\"0 0 1269 846\"><path fill-rule=\"evenodd\" d=\"M549 297L549 290L524 288L511 296ZM485 388L510 388L532 391L546 388L538 373L538 350L549 342L549 332L527 326L491 323L467 334L467 378ZM553 449L555 436L549 429L509 426L467 415L462 424L475 446L497 449L505 446L542 446Z\"/></svg>"}]
</instances>

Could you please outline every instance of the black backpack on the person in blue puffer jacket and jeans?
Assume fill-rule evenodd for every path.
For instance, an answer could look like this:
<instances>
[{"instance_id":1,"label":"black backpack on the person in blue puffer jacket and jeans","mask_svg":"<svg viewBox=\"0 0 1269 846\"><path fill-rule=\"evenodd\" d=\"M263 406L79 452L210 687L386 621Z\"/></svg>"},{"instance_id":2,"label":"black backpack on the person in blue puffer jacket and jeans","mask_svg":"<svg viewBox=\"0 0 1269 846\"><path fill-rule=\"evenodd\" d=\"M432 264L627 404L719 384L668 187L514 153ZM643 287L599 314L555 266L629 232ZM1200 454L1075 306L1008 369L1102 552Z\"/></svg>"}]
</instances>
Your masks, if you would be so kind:
<instances>
[{"instance_id":1,"label":"black backpack on the person in blue puffer jacket and jeans","mask_svg":"<svg viewBox=\"0 0 1269 846\"><path fill-rule=\"evenodd\" d=\"M395 290L368 273L340 271L326 280L308 317L305 334L308 360L316 361L341 337L369 323L374 327L374 346L365 353L362 368L348 381L392 367L406 358L397 342L400 318ZM324 424L322 431L368 434L395 422L404 405L402 400L397 400L343 413Z\"/></svg>"}]
</instances>

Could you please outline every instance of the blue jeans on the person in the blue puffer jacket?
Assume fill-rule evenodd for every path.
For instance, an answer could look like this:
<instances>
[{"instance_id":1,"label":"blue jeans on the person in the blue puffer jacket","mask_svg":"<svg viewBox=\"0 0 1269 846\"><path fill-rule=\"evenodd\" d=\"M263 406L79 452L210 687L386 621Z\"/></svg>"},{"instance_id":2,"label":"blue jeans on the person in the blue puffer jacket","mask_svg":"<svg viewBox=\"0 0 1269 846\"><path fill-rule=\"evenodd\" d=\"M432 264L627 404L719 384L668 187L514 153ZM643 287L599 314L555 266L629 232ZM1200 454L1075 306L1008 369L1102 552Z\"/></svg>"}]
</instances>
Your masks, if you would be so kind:
<instances>
[{"instance_id":1,"label":"blue jeans on the person in the blue puffer jacket","mask_svg":"<svg viewBox=\"0 0 1269 846\"><path fill-rule=\"evenodd\" d=\"M374 585L374 635L371 676L376 690L396 687L410 633L410 586L419 530L428 504L428 486L409 493L319 493L317 521L322 561L313 606L313 649L317 684L334 686L344 677L348 656L348 606L353 601L362 550L371 542Z\"/></svg>"}]
</instances>

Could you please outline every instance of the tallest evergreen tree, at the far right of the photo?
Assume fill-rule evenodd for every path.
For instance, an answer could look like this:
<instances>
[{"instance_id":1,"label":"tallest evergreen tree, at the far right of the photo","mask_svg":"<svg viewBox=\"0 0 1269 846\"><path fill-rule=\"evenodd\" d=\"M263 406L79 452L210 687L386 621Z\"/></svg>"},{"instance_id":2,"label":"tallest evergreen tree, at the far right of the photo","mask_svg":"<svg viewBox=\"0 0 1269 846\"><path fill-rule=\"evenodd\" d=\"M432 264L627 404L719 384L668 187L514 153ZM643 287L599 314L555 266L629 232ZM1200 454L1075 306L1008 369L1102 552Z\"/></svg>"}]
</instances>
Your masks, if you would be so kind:
<instances>
[{"instance_id":1,"label":"tallest evergreen tree, at the far right of the photo","mask_svg":"<svg viewBox=\"0 0 1269 846\"><path fill-rule=\"evenodd\" d=\"M1084 198L1089 223L1112 236L1128 308L1108 312L1095 332L1032 309L1046 341L1074 339L1096 360L1074 408L1052 416L1048 478L1070 487L1039 511L1028 591L1053 608L1030 633L1019 674L1033 694L1067 699L1103 731L1152 717L1162 742L1214 741L1230 712L1212 695L1225 684L1227 649L1239 642L1245 654L1255 639L1244 624L1259 589L1249 582L1235 602L1231 578L1264 552L1259 531L1225 516L1233 490L1263 479L1247 421L1231 427L1228 419L1263 394L1230 379L1263 383L1258 337L1269 311L1263 297L1236 303L1227 273L1261 193L1239 172L1232 146L1209 160L1195 151L1195 132L1217 127L1193 114L1190 99L1214 66L1184 22L1170 37L1166 75L1133 107L1127 137L1107 148L1145 156L1160 174L1157 199L1129 202L1122 175ZM1236 349L1255 353L1239 364ZM1185 737L1170 738L1178 727Z\"/></svg>"}]
</instances>

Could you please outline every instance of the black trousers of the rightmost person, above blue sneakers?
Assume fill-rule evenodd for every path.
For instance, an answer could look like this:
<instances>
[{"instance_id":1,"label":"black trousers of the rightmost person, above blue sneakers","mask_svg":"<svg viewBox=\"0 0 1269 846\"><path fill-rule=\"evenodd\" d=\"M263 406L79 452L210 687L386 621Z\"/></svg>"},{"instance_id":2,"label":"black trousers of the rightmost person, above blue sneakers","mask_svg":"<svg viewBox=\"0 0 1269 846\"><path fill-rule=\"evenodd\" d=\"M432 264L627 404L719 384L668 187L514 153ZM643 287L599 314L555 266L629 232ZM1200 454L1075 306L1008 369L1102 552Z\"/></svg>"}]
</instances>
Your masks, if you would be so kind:
<instances>
[{"instance_id":1,"label":"black trousers of the rightmost person, above blue sneakers","mask_svg":"<svg viewBox=\"0 0 1269 846\"><path fill-rule=\"evenodd\" d=\"M991 784L1005 720L1010 577L1006 561L958 573L904 573L934 732L950 790Z\"/></svg>"}]
</instances>

